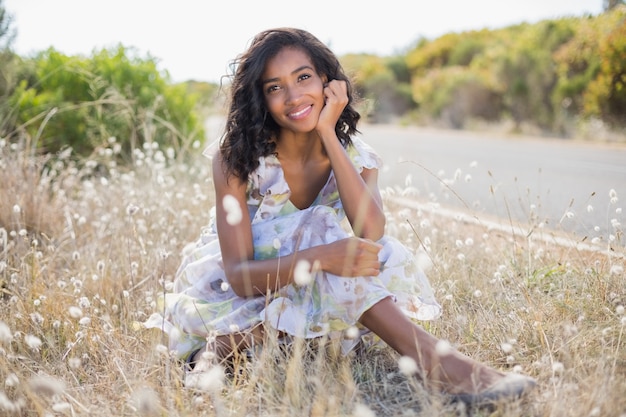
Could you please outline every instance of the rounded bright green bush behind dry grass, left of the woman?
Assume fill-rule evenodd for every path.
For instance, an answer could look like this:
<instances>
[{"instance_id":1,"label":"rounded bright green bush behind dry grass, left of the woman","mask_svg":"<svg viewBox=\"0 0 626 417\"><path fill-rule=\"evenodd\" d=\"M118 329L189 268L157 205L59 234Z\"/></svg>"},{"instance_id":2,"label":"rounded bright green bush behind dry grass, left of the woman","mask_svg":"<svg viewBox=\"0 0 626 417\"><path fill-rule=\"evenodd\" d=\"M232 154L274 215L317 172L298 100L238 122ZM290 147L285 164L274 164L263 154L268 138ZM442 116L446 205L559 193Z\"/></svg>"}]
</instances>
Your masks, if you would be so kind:
<instances>
[{"instance_id":1,"label":"rounded bright green bush behind dry grass, left of the woman","mask_svg":"<svg viewBox=\"0 0 626 417\"><path fill-rule=\"evenodd\" d=\"M88 58L49 49L26 60L20 78L10 97L16 131L42 152L88 154L113 137L128 155L145 142L180 149L203 139L197 95L122 46Z\"/></svg>"}]
</instances>

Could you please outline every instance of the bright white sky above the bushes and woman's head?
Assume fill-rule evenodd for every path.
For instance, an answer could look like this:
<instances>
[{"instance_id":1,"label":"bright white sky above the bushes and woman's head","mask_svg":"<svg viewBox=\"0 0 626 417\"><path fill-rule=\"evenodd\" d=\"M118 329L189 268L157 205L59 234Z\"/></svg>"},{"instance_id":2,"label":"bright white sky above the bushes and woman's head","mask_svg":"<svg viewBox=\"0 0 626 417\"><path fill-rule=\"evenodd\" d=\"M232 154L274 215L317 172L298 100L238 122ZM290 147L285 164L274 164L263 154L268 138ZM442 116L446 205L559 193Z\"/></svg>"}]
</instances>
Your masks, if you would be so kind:
<instances>
[{"instance_id":1,"label":"bright white sky above the bushes and woman's head","mask_svg":"<svg viewBox=\"0 0 626 417\"><path fill-rule=\"evenodd\" d=\"M157 58L173 81L219 81L254 35L307 29L335 53L391 55L421 36L597 15L602 0L4 0L19 55L122 44Z\"/></svg>"}]
</instances>

